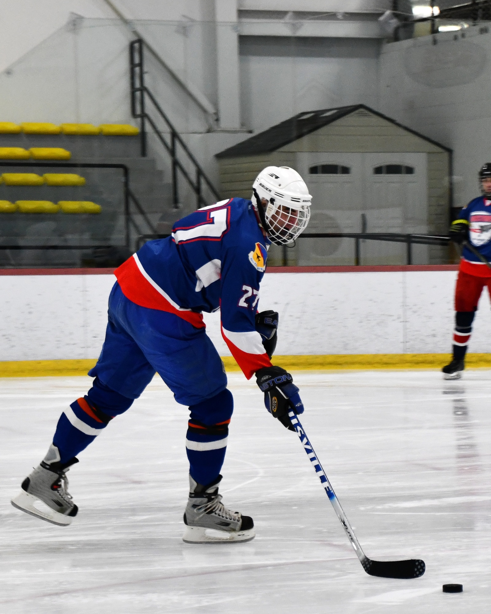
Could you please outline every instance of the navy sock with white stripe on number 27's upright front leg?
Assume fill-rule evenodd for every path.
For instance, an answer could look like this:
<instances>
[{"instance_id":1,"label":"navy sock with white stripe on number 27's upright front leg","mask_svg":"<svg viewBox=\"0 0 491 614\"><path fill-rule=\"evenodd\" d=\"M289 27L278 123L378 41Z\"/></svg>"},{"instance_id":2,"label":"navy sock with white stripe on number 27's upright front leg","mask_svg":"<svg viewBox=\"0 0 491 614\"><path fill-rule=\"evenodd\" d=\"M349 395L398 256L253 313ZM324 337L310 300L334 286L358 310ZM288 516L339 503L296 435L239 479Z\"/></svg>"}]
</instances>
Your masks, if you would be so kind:
<instances>
[{"instance_id":1,"label":"navy sock with white stripe on number 27's upright front leg","mask_svg":"<svg viewBox=\"0 0 491 614\"><path fill-rule=\"evenodd\" d=\"M214 481L225 459L228 425L233 412L230 391L190 406L191 416L186 435L186 453L191 478L198 484Z\"/></svg>"}]
</instances>

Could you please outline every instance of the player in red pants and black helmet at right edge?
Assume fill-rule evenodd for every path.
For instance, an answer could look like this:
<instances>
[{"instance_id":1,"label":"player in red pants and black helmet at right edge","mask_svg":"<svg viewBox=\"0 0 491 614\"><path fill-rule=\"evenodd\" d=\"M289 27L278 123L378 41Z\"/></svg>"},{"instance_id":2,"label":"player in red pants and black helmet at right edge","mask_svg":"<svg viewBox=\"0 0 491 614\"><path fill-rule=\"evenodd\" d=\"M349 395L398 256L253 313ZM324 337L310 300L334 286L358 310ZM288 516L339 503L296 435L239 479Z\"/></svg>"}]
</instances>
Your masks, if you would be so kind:
<instances>
[{"instance_id":1,"label":"player in red pants and black helmet at right edge","mask_svg":"<svg viewBox=\"0 0 491 614\"><path fill-rule=\"evenodd\" d=\"M486 260L491 259L491 162L479 171L482 196L462 209L450 227L450 238L457 244L470 241ZM446 379L458 379L464 369L465 353L471 338L472 323L482 289L491 296L491 269L463 247L455 286L455 330L452 362L442 371Z\"/></svg>"}]
</instances>

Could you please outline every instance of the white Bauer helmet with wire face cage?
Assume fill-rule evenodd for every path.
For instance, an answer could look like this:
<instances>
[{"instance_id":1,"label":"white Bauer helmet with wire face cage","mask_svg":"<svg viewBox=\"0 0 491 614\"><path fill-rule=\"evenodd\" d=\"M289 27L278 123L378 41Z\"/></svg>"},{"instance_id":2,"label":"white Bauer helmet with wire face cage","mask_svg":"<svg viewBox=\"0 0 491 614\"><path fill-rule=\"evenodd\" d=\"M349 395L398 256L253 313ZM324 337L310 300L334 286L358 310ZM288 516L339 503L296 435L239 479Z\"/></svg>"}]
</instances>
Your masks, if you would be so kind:
<instances>
[{"instance_id":1,"label":"white Bauer helmet with wire face cage","mask_svg":"<svg viewBox=\"0 0 491 614\"><path fill-rule=\"evenodd\" d=\"M252 202L271 242L286 245L295 241L311 217L312 196L302 177L289 166L266 166L252 191ZM263 198L266 206L261 204Z\"/></svg>"}]
</instances>

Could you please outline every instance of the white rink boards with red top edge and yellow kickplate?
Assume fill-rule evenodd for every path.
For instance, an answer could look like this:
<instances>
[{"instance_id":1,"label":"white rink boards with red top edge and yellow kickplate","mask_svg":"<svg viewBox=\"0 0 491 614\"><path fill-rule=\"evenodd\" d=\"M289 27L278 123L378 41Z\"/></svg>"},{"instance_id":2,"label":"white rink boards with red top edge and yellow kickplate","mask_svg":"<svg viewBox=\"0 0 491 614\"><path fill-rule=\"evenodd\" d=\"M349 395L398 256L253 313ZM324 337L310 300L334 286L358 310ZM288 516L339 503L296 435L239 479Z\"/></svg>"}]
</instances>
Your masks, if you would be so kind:
<instances>
[{"instance_id":1,"label":"white rink boards with red top edge and yellow kickplate","mask_svg":"<svg viewBox=\"0 0 491 614\"><path fill-rule=\"evenodd\" d=\"M268 271L261 284L260 309L276 309L280 314L276 354L282 359L277 362L292 369L441 365L452 340L456 268L359 266ZM4 365L0 371L8 375L16 370L8 363L18 362L19 374L34 375L31 367L36 365L20 362L38 361L36 368L45 375L59 375L60 367L68 367L64 373L74 375L80 370L87 372L104 340L107 297L114 281L107 269L1 271L0 357ZM487 293L481 297L480 308L470 352L487 354ZM220 313L204 314L204 319L226 367L233 368L220 335ZM373 354L377 356L366 356ZM431 356L410 356L414 354ZM39 363L58 360L71 362L58 366ZM475 366L488 365L487 357L476 356L474 360Z\"/></svg>"}]
</instances>

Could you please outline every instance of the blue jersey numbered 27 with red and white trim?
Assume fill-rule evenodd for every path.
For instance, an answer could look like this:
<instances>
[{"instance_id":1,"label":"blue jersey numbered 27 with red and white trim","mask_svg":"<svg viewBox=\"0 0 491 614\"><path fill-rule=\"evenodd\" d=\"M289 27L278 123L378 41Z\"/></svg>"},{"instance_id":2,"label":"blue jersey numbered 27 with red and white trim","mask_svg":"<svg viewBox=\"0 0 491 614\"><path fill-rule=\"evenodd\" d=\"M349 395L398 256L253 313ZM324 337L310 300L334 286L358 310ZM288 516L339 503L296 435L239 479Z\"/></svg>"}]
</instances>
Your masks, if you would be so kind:
<instances>
[{"instance_id":1,"label":"blue jersey numbered 27 with red and white trim","mask_svg":"<svg viewBox=\"0 0 491 614\"><path fill-rule=\"evenodd\" d=\"M255 330L259 284L269 240L250 200L230 198L203 207L149 241L117 270L126 298L204 327L202 312L220 309L222 336L249 379L271 361Z\"/></svg>"}]
</instances>

